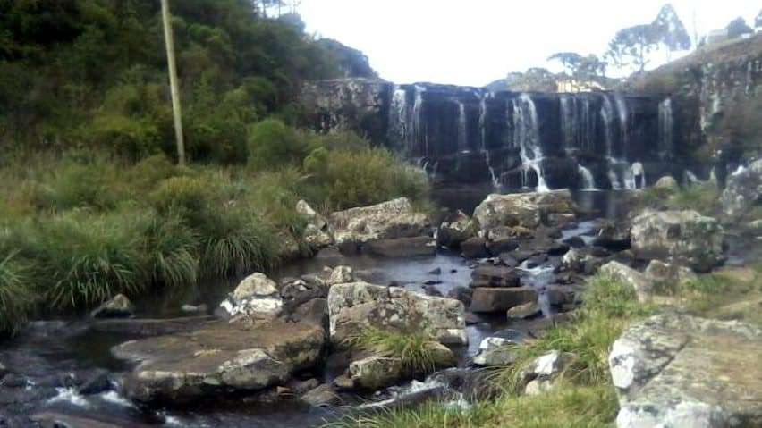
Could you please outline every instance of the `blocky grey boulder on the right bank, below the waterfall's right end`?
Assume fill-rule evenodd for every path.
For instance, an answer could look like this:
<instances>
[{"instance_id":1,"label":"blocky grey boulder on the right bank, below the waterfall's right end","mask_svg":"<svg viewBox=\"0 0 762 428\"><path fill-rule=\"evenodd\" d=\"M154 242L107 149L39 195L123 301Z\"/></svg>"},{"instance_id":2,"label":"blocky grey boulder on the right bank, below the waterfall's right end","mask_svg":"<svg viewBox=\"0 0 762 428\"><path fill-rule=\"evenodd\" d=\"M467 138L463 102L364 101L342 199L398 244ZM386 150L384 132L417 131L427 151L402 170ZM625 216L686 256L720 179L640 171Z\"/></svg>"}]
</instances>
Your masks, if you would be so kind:
<instances>
[{"instance_id":1,"label":"blocky grey boulder on the right bank, below the waterfall's right end","mask_svg":"<svg viewBox=\"0 0 762 428\"><path fill-rule=\"evenodd\" d=\"M696 211L647 211L632 221L632 250L708 272L724 262L723 228Z\"/></svg>"}]
</instances>

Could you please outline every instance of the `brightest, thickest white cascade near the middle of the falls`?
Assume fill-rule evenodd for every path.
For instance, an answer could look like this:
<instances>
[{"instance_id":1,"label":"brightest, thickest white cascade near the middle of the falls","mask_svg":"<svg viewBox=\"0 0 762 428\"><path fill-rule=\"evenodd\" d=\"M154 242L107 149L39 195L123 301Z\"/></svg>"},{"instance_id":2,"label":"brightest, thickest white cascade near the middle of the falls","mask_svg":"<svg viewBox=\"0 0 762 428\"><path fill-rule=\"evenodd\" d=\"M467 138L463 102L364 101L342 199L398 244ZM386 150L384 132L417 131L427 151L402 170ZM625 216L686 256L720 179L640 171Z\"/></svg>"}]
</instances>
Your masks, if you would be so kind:
<instances>
[{"instance_id":1,"label":"brightest, thickest white cascade near the middle of the falls","mask_svg":"<svg viewBox=\"0 0 762 428\"><path fill-rule=\"evenodd\" d=\"M538 192L549 191L542 173L542 149L539 146L538 112L529 94L521 94L512 100L513 103L513 142L519 143L521 164L533 170L538 176ZM526 176L524 183L528 182Z\"/></svg>"}]
</instances>

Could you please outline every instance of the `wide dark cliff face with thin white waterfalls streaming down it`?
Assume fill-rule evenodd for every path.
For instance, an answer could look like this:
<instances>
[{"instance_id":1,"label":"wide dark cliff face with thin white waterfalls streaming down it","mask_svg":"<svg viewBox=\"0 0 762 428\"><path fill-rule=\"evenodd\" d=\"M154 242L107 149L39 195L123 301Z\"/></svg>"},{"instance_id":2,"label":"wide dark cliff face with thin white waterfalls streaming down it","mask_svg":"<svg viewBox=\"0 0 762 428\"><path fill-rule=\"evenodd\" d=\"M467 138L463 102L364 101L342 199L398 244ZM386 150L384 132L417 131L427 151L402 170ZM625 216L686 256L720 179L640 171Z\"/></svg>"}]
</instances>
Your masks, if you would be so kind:
<instances>
[{"instance_id":1,"label":"wide dark cliff face with thin white waterfalls streaming down it","mask_svg":"<svg viewBox=\"0 0 762 428\"><path fill-rule=\"evenodd\" d=\"M360 130L418 160L436 180L634 189L665 174L682 178L671 103L661 96L351 79L310 84L303 101L318 130Z\"/></svg>"}]
</instances>

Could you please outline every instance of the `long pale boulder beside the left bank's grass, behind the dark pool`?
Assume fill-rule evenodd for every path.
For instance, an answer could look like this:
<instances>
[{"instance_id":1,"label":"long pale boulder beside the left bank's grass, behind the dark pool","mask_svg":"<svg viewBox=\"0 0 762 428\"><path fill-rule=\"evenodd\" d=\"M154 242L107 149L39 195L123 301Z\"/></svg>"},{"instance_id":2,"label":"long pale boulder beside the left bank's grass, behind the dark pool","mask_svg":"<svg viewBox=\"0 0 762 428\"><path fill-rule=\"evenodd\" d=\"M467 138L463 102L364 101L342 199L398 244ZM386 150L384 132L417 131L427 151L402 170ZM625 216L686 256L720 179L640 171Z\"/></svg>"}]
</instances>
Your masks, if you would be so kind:
<instances>
[{"instance_id":1,"label":"long pale boulder beside the left bank's grass, behind the dark pool","mask_svg":"<svg viewBox=\"0 0 762 428\"><path fill-rule=\"evenodd\" d=\"M375 206L361 206L331 214L329 223L337 245L366 243L378 239L425 235L428 215L415 213L410 201L401 197Z\"/></svg>"}]
</instances>

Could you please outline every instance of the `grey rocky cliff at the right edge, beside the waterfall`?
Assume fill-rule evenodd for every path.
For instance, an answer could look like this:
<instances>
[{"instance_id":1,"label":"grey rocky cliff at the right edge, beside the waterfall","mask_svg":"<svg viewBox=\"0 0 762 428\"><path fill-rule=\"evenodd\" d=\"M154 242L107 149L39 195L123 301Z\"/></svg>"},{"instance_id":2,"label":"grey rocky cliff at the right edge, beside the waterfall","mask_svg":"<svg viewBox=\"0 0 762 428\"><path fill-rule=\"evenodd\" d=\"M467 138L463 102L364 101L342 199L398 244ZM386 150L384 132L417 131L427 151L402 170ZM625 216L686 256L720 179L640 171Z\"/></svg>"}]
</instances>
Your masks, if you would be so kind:
<instances>
[{"instance_id":1,"label":"grey rocky cliff at the right edge, beside the waterfall","mask_svg":"<svg viewBox=\"0 0 762 428\"><path fill-rule=\"evenodd\" d=\"M675 155L721 178L762 154L762 33L705 46L648 73L635 90L673 99Z\"/></svg>"}]
</instances>

